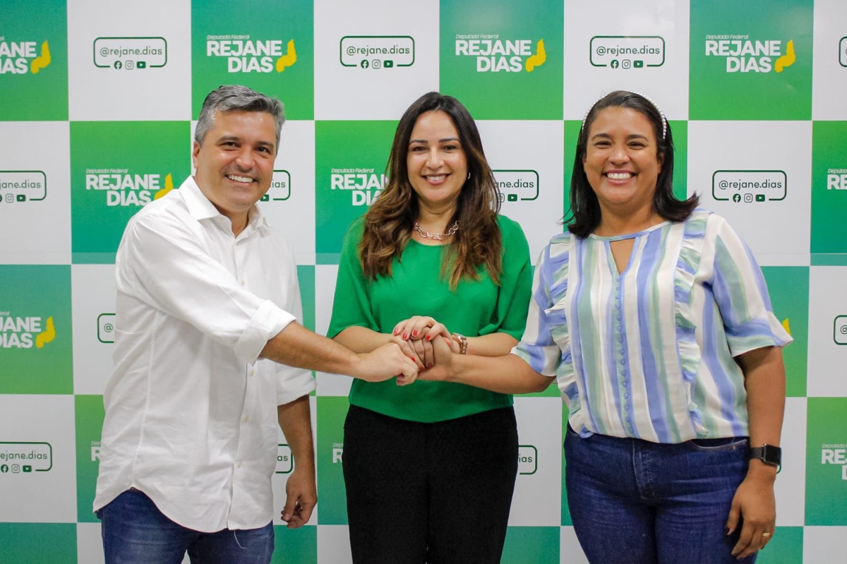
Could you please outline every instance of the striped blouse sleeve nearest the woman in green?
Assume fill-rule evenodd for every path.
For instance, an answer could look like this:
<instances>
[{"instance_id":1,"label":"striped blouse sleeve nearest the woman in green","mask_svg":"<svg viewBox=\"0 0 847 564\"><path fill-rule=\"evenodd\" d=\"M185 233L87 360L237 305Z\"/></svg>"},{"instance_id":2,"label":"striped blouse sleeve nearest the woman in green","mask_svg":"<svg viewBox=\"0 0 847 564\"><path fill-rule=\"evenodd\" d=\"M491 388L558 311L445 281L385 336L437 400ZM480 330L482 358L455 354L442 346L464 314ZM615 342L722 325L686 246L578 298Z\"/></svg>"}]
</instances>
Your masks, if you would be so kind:
<instances>
[{"instance_id":1,"label":"striped blouse sleeve nearest the woman in green","mask_svg":"<svg viewBox=\"0 0 847 564\"><path fill-rule=\"evenodd\" d=\"M551 297L551 246L545 246L535 264L532 297L529 300L523 338L512 353L523 358L532 369L545 376L556 376L562 363L562 348L553 338L567 340L564 310L556 309Z\"/></svg>"}]
</instances>

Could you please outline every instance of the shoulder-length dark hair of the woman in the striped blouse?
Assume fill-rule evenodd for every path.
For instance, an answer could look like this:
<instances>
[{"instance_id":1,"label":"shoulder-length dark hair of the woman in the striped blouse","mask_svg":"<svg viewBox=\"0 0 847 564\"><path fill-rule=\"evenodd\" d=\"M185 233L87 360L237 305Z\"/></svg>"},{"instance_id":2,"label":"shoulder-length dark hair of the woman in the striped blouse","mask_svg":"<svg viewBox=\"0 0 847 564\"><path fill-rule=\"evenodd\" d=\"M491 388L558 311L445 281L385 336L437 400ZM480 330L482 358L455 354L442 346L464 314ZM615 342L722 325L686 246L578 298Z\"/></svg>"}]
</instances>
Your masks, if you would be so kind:
<instances>
[{"instance_id":1,"label":"shoulder-length dark hair of the woman in the striped blouse","mask_svg":"<svg viewBox=\"0 0 847 564\"><path fill-rule=\"evenodd\" d=\"M583 159L588 150L588 133L597 114L601 110L612 107L632 108L642 113L653 126L656 136L656 156L662 158L662 170L656 179L656 194L653 196L653 209L662 218L671 221L684 221L691 215L700 202L696 194L687 200L678 200L673 196L673 136L671 125L664 119L658 108L647 98L635 92L618 90L606 94L591 107L585 116L582 130L579 131L577 152L573 158L573 174L571 175L571 209L566 218L567 229L578 237L587 237L600 224L601 209L597 196L591 190L588 178L585 176ZM666 129L662 138L662 125Z\"/></svg>"}]
</instances>

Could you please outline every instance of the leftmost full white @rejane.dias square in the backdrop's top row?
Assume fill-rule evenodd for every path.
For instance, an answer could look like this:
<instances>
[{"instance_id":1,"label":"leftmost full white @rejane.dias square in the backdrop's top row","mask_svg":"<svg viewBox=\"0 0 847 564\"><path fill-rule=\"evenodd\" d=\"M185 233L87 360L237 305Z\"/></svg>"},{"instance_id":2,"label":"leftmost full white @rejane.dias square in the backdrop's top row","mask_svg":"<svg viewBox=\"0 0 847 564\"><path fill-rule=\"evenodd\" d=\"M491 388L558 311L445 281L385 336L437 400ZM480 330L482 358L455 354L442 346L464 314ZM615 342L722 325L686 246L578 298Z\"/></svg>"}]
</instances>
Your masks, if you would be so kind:
<instances>
[{"instance_id":1,"label":"leftmost full white @rejane.dias square in the backdrop's top row","mask_svg":"<svg viewBox=\"0 0 847 564\"><path fill-rule=\"evenodd\" d=\"M191 119L191 3L68 0L68 111L71 121Z\"/></svg>"}]
</instances>

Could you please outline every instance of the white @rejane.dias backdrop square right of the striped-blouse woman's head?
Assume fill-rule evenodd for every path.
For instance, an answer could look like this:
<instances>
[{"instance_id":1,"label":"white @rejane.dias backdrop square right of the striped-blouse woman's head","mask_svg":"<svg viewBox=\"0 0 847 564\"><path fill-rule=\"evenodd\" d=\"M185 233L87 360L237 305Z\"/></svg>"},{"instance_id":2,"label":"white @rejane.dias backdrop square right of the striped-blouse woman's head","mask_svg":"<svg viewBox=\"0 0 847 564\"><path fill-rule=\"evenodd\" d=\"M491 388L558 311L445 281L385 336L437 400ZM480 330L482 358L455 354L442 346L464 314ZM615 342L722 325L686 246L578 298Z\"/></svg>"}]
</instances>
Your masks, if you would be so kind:
<instances>
[{"instance_id":1,"label":"white @rejane.dias backdrop square right of the striped-blouse woman's head","mask_svg":"<svg viewBox=\"0 0 847 564\"><path fill-rule=\"evenodd\" d=\"M688 192L722 215L760 265L809 264L811 122L689 121ZM779 183L782 188L750 188ZM761 196L763 201L759 201Z\"/></svg>"}]
</instances>

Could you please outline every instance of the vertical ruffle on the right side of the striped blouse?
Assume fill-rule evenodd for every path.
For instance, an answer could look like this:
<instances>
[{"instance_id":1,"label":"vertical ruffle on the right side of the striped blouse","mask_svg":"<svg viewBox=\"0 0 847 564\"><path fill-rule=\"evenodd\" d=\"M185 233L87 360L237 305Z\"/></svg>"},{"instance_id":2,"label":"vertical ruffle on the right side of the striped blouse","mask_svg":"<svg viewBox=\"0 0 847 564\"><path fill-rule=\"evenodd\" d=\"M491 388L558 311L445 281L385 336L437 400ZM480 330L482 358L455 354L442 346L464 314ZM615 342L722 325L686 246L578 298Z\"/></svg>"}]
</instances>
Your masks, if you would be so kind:
<instances>
[{"instance_id":1,"label":"vertical ruffle on the right side of the striped blouse","mask_svg":"<svg viewBox=\"0 0 847 564\"><path fill-rule=\"evenodd\" d=\"M697 329L694 309L691 307L691 289L695 284L695 273L703 256L706 237L706 222L711 212L695 209L685 221L679 258L673 277L673 301L676 309L677 349L679 366L682 369L689 415L698 435L705 434L700 408L692 399L692 388L700 367L700 346L697 345Z\"/></svg>"}]
</instances>

